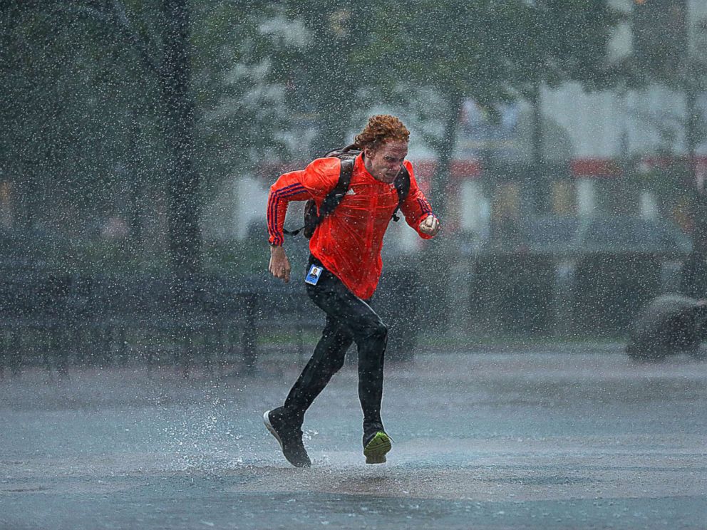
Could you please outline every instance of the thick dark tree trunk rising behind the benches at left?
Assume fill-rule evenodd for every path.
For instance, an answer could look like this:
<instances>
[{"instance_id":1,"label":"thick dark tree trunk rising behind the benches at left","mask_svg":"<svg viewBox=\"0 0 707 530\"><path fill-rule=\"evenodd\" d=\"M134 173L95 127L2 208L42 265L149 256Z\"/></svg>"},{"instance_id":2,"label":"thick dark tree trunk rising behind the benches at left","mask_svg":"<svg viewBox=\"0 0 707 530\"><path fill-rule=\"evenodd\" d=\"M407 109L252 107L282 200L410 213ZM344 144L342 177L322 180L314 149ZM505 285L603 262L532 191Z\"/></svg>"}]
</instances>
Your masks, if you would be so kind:
<instances>
[{"instance_id":1,"label":"thick dark tree trunk rising behind the benches at left","mask_svg":"<svg viewBox=\"0 0 707 530\"><path fill-rule=\"evenodd\" d=\"M167 225L172 272L189 278L202 269L199 224L199 176L192 166L194 100L190 93L189 6L187 0L164 0L165 53L160 87L165 110L167 165Z\"/></svg>"}]
</instances>

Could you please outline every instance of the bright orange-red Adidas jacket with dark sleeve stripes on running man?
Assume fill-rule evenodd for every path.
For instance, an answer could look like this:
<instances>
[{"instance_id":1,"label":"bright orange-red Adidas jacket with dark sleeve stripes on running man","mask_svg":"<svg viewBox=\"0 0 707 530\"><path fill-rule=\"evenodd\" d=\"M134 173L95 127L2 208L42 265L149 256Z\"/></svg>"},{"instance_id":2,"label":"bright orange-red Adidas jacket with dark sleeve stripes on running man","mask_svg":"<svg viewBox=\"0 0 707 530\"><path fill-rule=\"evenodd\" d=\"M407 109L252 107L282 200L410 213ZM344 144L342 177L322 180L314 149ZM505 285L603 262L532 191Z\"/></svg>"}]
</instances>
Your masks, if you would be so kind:
<instances>
[{"instance_id":1,"label":"bright orange-red Adidas jacket with dark sleeve stripes on running man","mask_svg":"<svg viewBox=\"0 0 707 530\"><path fill-rule=\"evenodd\" d=\"M413 166L407 160L410 192L401 210L406 222L420 237L430 239L418 230L420 222L432 214L430 203L418 188ZM318 158L306 169L281 175L270 187L267 202L267 229L271 244L282 244L287 204L313 198L321 207L324 197L339 182L341 160ZM373 178L356 157L349 191L339 206L319 224L309 240L309 250L324 267L364 300L373 296L381 276L383 235L398 205L398 192L392 184Z\"/></svg>"}]
</instances>

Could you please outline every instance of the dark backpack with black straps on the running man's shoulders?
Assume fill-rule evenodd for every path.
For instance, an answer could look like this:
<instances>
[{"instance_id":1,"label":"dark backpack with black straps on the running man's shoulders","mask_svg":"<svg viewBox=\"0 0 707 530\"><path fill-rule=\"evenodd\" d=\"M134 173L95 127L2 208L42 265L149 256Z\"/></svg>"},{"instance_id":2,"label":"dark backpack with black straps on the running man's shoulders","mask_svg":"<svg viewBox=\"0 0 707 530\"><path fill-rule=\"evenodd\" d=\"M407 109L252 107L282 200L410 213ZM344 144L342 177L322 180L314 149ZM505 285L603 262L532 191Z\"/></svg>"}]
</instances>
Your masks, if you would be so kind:
<instances>
[{"instance_id":1,"label":"dark backpack with black straps on the running man's shoulders","mask_svg":"<svg viewBox=\"0 0 707 530\"><path fill-rule=\"evenodd\" d=\"M307 239L311 238L314 234L314 230L319 226L319 223L324 220L324 217L334 212L339 202L344 199L344 195L349 191L349 184L351 183L351 175L354 173L354 160L361 154L361 149L359 149L356 144L346 145L346 147L338 147L332 151L329 151L324 155L324 157L336 157L341 160L341 171L339 172L339 182L336 182L334 188L326 194L324 197L324 202L321 203L321 210L318 212L316 208L316 202L314 199L309 199L304 204L304 227L296 230L283 230L283 232L289 236L296 236L299 232L304 231L304 237ZM401 167L400 172L396 176L396 180L393 181L393 185L396 187L398 192L398 206L393 212L393 221L398 222L400 217L398 217L398 210L408 197L408 192L410 192L410 173L406 170L405 166Z\"/></svg>"}]
</instances>

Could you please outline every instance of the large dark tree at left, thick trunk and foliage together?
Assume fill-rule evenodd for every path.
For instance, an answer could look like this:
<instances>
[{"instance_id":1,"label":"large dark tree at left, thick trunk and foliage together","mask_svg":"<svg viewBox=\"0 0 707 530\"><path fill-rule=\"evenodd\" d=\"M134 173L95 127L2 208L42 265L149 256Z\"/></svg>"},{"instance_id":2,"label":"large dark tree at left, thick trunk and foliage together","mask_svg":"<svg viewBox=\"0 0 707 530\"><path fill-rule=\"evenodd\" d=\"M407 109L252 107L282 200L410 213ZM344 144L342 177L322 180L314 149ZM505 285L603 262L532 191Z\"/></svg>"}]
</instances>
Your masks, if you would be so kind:
<instances>
[{"instance_id":1,"label":"large dark tree at left, thick trunk and foliage together","mask_svg":"<svg viewBox=\"0 0 707 530\"><path fill-rule=\"evenodd\" d=\"M24 224L105 218L125 197L118 203L128 203L139 249L141 209L157 213L145 200L151 180L169 197L172 269L199 271L204 194L284 144L284 88L269 80L269 56L287 28L274 3L258 6L2 4L0 113L11 127L0 135L0 160L24 197ZM54 212L55 204L73 214Z\"/></svg>"}]
</instances>

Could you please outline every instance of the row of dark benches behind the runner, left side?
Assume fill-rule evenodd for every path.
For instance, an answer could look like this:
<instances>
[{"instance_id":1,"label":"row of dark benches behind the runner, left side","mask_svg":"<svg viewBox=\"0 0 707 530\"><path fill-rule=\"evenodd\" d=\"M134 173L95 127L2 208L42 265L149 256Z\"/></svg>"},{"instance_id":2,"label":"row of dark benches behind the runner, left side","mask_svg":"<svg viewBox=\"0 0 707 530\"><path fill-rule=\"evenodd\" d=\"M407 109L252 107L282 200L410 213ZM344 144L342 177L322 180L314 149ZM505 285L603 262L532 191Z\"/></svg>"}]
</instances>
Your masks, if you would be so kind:
<instances>
[{"instance_id":1,"label":"row of dark benches behind the runner, left side","mask_svg":"<svg viewBox=\"0 0 707 530\"><path fill-rule=\"evenodd\" d=\"M173 363L187 375L254 370L264 334L304 353L323 318L304 289L264 276L78 276L41 271L0 279L0 375L44 365ZM230 367L230 368L229 368Z\"/></svg>"}]
</instances>

